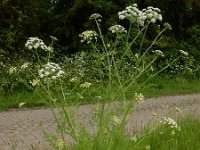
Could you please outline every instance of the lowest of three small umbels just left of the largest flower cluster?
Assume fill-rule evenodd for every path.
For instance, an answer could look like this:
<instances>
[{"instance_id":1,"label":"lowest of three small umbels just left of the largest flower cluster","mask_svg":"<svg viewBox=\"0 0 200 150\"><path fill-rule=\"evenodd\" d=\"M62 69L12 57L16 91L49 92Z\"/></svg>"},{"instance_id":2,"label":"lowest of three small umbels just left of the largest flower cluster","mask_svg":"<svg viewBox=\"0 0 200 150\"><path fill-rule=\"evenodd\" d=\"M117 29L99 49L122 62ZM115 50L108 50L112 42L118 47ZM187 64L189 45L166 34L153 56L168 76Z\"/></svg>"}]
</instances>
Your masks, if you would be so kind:
<instances>
[{"instance_id":1,"label":"lowest of three small umbels just left of the largest flower cluster","mask_svg":"<svg viewBox=\"0 0 200 150\"><path fill-rule=\"evenodd\" d=\"M81 43L87 41L87 44L92 42L92 40L97 41L97 36L98 34L92 30L86 30L83 33L79 34L79 37L81 38Z\"/></svg>"}]
</instances>

